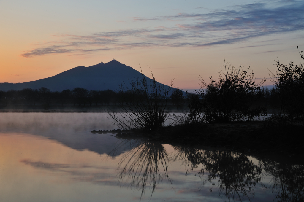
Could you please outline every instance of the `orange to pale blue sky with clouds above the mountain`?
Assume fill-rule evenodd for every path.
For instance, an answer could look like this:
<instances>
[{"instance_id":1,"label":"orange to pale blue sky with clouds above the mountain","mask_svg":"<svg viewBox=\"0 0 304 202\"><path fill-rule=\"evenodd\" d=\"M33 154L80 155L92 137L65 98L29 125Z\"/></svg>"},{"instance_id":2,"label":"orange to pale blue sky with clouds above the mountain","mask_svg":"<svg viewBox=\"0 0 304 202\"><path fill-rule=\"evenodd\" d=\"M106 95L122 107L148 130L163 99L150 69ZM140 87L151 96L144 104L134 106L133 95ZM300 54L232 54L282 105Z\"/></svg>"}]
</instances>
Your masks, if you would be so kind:
<instances>
[{"instance_id":1,"label":"orange to pale blue sky with clouds above the mountain","mask_svg":"<svg viewBox=\"0 0 304 202\"><path fill-rule=\"evenodd\" d=\"M117 61L180 89L226 62L257 80L301 61L304 1L0 0L0 83ZM149 66L149 67L148 67Z\"/></svg>"}]
</instances>

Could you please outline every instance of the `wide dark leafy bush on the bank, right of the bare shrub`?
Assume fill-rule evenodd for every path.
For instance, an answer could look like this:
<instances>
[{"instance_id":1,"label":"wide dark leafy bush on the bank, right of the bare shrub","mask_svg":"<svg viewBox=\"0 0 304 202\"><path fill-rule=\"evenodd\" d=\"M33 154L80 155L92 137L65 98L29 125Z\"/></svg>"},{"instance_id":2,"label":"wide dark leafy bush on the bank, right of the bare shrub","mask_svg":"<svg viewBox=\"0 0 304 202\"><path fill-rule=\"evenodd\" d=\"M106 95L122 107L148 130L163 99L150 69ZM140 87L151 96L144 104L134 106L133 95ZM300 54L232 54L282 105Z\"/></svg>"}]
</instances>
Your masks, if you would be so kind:
<instances>
[{"instance_id":1,"label":"wide dark leafy bush on the bank, right of the bare shrub","mask_svg":"<svg viewBox=\"0 0 304 202\"><path fill-rule=\"evenodd\" d=\"M207 84L201 77L202 86L197 92L201 99L189 104L193 119L202 122L229 122L251 120L256 116L267 115L263 107L252 108L254 95L260 90L264 79L256 84L250 66L243 70L226 63L219 71L218 80L210 78Z\"/></svg>"}]
</instances>

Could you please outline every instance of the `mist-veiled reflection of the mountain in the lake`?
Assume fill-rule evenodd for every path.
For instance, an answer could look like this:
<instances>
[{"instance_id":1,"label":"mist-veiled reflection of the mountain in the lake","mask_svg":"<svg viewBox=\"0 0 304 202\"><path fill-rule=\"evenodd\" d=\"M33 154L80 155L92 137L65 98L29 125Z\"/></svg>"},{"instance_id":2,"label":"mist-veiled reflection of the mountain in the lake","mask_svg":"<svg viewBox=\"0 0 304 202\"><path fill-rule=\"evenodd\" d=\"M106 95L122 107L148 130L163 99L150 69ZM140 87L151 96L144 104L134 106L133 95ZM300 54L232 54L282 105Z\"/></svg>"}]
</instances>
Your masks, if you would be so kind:
<instances>
[{"instance_id":1,"label":"mist-veiled reflection of the mountain in the lake","mask_svg":"<svg viewBox=\"0 0 304 202\"><path fill-rule=\"evenodd\" d=\"M72 149L119 155L132 148L115 134L92 134L92 129L112 129L105 113L3 113L0 132L22 132L56 140ZM111 136L112 135L112 136Z\"/></svg>"}]
</instances>

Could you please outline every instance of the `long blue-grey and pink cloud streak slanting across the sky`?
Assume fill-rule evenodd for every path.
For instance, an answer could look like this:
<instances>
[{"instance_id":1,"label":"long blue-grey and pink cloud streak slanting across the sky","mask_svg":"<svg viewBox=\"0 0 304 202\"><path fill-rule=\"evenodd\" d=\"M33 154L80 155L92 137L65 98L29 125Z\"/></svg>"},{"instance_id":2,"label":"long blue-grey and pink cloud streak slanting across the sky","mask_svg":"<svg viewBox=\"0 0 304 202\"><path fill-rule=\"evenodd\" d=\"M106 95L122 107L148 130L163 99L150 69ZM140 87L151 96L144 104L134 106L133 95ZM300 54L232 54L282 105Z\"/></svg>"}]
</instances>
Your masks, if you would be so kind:
<instances>
[{"instance_id":1,"label":"long blue-grey and pink cloud streak slanting across the sky","mask_svg":"<svg viewBox=\"0 0 304 202\"><path fill-rule=\"evenodd\" d=\"M87 36L56 35L58 40L37 45L22 57L47 54L90 54L96 51L147 47L203 47L233 44L251 38L304 30L304 3L281 1L255 3L209 13L179 13L133 21L163 23L156 28L99 32ZM171 22L171 26L168 26ZM179 22L177 24L176 22Z\"/></svg>"}]
</instances>

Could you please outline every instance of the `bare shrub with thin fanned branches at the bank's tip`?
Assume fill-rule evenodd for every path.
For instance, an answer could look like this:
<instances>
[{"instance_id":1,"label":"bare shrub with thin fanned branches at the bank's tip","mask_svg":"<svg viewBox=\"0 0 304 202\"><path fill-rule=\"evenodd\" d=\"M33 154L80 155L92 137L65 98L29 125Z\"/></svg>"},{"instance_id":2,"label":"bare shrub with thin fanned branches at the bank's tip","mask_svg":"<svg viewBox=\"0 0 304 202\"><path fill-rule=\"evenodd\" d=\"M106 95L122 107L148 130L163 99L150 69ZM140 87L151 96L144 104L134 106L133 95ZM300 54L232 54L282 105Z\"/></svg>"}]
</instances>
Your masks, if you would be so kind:
<instances>
[{"instance_id":1,"label":"bare shrub with thin fanned branches at the bank's tip","mask_svg":"<svg viewBox=\"0 0 304 202\"><path fill-rule=\"evenodd\" d=\"M120 85L119 91L126 97L125 105L122 105L122 112L108 111L112 122L121 129L141 129L154 131L164 125L168 118L168 99L173 83L165 86L156 81L151 72L152 79L141 72L139 79L129 80L131 88L127 85Z\"/></svg>"}]
</instances>

